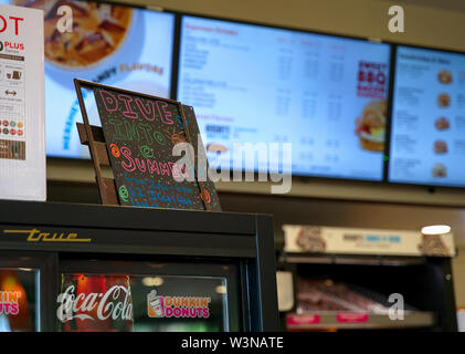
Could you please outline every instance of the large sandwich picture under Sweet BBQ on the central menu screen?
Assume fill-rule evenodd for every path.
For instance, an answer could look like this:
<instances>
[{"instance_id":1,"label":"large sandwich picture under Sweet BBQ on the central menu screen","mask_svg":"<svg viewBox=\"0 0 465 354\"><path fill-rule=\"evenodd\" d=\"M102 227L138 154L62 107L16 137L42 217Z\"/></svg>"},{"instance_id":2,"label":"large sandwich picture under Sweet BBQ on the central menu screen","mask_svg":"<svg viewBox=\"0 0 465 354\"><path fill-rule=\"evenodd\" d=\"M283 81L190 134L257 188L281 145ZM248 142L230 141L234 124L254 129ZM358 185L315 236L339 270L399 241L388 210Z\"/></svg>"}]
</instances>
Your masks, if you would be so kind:
<instances>
[{"instance_id":1,"label":"large sandwich picture under Sweet BBQ on the central menu screen","mask_svg":"<svg viewBox=\"0 0 465 354\"><path fill-rule=\"evenodd\" d=\"M356 134L360 146L369 152L383 152L385 138L387 101L371 101L362 111L362 116L357 118Z\"/></svg>"}]
</instances>

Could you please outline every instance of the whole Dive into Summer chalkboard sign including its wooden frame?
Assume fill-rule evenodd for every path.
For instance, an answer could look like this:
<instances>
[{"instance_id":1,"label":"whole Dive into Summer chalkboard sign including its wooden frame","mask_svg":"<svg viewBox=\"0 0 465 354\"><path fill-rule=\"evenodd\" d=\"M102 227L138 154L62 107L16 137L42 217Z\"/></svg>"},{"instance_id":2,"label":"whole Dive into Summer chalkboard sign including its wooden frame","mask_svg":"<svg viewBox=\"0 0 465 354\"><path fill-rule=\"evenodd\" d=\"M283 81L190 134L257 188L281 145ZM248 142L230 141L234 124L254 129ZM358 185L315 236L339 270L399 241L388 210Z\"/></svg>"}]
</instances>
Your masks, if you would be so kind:
<instances>
[{"instance_id":1,"label":"whole Dive into Summer chalkboard sign including its wooden frame","mask_svg":"<svg viewBox=\"0 0 465 354\"><path fill-rule=\"evenodd\" d=\"M221 210L214 185L208 178L207 156L191 106L92 82L74 82L84 121L84 126L78 125L81 142L89 146L104 204L117 200L134 207ZM102 131L88 123L83 87L93 92ZM184 155L173 156L178 144L183 144L180 152ZM184 148L187 144L191 148ZM205 165L198 164L199 158ZM102 176L101 165L112 167L114 183ZM115 197L108 196L112 194Z\"/></svg>"}]
</instances>

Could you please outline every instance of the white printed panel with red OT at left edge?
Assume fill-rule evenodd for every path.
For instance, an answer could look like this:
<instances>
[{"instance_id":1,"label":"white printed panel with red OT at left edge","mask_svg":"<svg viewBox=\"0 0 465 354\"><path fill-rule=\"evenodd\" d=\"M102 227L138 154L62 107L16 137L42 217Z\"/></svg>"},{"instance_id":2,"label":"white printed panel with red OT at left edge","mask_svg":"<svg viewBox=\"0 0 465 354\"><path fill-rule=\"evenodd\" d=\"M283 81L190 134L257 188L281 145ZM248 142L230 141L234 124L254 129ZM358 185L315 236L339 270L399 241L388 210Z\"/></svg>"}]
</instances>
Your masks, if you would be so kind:
<instances>
[{"instance_id":1,"label":"white printed panel with red OT at left edge","mask_svg":"<svg viewBox=\"0 0 465 354\"><path fill-rule=\"evenodd\" d=\"M0 198L45 200L43 12L0 4Z\"/></svg>"}]
</instances>

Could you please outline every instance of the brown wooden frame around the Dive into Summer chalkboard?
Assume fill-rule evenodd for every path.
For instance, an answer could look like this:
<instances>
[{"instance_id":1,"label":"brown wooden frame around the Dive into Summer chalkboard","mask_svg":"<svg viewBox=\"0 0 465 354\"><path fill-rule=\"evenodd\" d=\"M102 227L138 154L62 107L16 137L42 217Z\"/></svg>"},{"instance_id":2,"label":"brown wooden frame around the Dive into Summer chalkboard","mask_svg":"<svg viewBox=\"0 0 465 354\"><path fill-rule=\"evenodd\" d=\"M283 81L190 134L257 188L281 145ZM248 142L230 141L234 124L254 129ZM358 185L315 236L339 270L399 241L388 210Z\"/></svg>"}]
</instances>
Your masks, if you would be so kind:
<instances>
[{"instance_id":1,"label":"brown wooden frame around the Dive into Summer chalkboard","mask_svg":"<svg viewBox=\"0 0 465 354\"><path fill-rule=\"evenodd\" d=\"M102 201L103 205L118 206L118 205L121 205L121 204L120 204L119 196L118 196L118 192L117 192L115 179L103 176L102 166L112 167L110 157L108 155L108 149L107 149L107 143L105 142L105 135L104 135L103 127L91 125L91 123L89 123L89 119L88 119L88 116L87 116L87 111L86 111L85 103L84 103L84 97L83 97L83 94L82 94L82 88L87 88L87 90L92 90L92 91L94 91L94 88L103 88L103 90L108 90L108 91L112 91L112 92L123 93L123 94L126 94L126 95L144 97L144 98L148 98L148 100L162 101L162 102L166 102L166 103L169 103L169 104L173 104L173 105L177 106L177 108L179 111L179 115L182 119L186 142L191 144L192 146L197 146L197 145L193 144L193 139L194 139L193 134L200 135L200 132L199 132L199 127L197 126L197 118L195 118L193 108L191 106L182 105L181 102L178 102L178 101L175 101L175 100L157 97L157 96L139 93L139 92L134 92L134 91L128 91L128 90L118 88L118 87L114 87L114 86L103 85L103 84L99 84L99 83L78 80L78 79L74 79L74 85L75 85L75 88L76 88L77 100L78 100L78 103L80 103L81 113L82 113L83 122L84 122L84 124L76 123L77 131L78 131L81 144L87 145L88 148L89 148L91 158L93 160L94 169L95 169L95 178L96 178L96 181L97 181L99 197L101 197L101 201ZM190 114L193 117L193 119L189 119L190 124L188 124L188 121L186 118L186 111L187 110L188 110L188 112L190 112ZM98 116L99 116L99 114L98 114ZM101 118L101 116L99 116L99 118ZM194 131L194 132L192 132L192 131ZM199 138L200 138L200 136L199 136ZM202 146L202 148L204 148L203 144L201 146ZM213 183L210 179L207 179L207 181L202 181L202 180L198 179L198 176L199 176L198 157L199 157L198 153L194 149L195 184L199 188L199 196L203 201L204 210L221 211L221 206L220 206L220 202L218 200L218 195L216 195L216 191L214 189ZM208 171L209 166L208 166L207 155L205 155L204 160L207 163L207 171ZM212 201L214 201L214 202L212 202ZM212 204L214 205L213 207L212 207Z\"/></svg>"}]
</instances>

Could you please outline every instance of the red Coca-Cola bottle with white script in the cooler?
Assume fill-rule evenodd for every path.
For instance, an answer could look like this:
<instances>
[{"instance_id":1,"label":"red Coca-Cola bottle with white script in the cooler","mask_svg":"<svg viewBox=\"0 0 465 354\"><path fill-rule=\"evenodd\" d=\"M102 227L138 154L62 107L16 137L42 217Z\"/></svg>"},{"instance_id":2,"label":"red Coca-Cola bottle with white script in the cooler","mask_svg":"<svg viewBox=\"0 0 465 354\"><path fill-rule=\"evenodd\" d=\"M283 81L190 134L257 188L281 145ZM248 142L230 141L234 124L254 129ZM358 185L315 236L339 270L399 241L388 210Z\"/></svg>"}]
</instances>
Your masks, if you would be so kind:
<instances>
[{"instance_id":1,"label":"red Coca-Cola bottle with white script in the cooler","mask_svg":"<svg viewBox=\"0 0 465 354\"><path fill-rule=\"evenodd\" d=\"M65 332L130 332L129 275L63 274L57 317Z\"/></svg>"}]
</instances>

